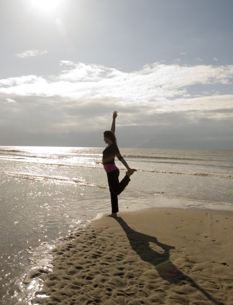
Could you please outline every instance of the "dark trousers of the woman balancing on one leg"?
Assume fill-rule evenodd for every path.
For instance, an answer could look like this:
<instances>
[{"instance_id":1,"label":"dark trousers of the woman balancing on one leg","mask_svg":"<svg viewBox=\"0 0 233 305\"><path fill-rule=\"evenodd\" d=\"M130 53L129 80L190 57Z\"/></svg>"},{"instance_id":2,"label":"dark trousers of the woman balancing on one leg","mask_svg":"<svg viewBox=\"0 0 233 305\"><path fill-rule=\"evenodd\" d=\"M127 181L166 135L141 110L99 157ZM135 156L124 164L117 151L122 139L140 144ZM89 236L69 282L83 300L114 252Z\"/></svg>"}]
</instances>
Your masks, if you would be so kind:
<instances>
[{"instance_id":1,"label":"dark trousers of the woman balancing on one leg","mask_svg":"<svg viewBox=\"0 0 233 305\"><path fill-rule=\"evenodd\" d=\"M119 169L115 169L112 172L107 173L108 177L108 186L111 194L111 205L112 205L112 213L119 212L118 210L118 198L117 196L124 191L125 187L130 182L130 177L125 175L125 177L119 182Z\"/></svg>"}]
</instances>

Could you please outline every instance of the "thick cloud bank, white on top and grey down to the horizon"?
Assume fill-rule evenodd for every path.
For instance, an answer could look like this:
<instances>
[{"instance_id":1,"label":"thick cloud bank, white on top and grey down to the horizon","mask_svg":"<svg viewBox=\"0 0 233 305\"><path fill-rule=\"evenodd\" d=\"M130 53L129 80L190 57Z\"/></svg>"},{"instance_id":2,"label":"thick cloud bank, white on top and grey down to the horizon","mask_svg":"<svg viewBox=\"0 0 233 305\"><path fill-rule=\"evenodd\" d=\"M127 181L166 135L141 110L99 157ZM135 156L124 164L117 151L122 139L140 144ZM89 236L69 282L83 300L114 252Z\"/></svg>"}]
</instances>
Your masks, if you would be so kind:
<instances>
[{"instance_id":1,"label":"thick cloud bank, white on top and grey down to the horizon","mask_svg":"<svg viewBox=\"0 0 233 305\"><path fill-rule=\"evenodd\" d=\"M61 139L62 145L88 145L91 139L92 145L98 146L101 130L110 128L111 113L116 109L120 114L117 134L124 139L127 130L131 135L130 142L122 140L124 146L135 146L138 135L145 140L139 141L140 145L155 145L160 139L165 147L158 133L164 134L164 141L175 141L186 130L182 140L185 148L185 139L192 144L188 133L194 137L193 130L197 130L202 137L201 127L212 128L213 137L219 133L222 139L225 132L227 143L233 143L228 132L233 121L233 65L154 63L138 71L121 72L63 60L60 68L58 74L47 77L1 79L0 127L14 136L18 134L17 138L24 138L29 145L59 145ZM203 90L206 87L208 90ZM33 142L35 135L40 143ZM200 139L199 143L205 142Z\"/></svg>"}]
</instances>

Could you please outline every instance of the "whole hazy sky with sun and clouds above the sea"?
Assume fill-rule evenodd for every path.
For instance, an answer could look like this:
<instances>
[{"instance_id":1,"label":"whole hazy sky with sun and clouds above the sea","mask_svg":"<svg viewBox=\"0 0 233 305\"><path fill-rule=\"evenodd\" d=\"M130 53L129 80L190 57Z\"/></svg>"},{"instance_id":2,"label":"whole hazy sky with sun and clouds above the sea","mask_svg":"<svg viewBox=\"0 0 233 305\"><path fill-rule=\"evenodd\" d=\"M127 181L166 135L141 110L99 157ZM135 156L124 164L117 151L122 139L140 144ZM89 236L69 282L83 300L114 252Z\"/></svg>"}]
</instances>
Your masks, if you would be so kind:
<instances>
[{"instance_id":1,"label":"whole hazy sky with sun and clouds above the sea","mask_svg":"<svg viewBox=\"0 0 233 305\"><path fill-rule=\"evenodd\" d=\"M233 149L232 0L0 0L0 145Z\"/></svg>"}]
</instances>

